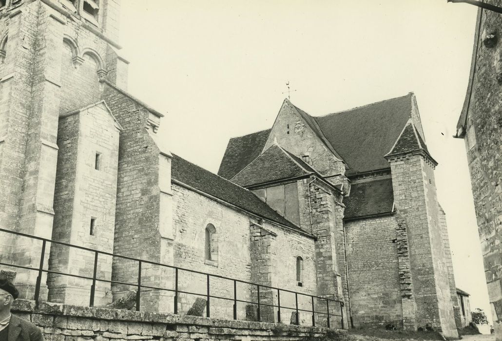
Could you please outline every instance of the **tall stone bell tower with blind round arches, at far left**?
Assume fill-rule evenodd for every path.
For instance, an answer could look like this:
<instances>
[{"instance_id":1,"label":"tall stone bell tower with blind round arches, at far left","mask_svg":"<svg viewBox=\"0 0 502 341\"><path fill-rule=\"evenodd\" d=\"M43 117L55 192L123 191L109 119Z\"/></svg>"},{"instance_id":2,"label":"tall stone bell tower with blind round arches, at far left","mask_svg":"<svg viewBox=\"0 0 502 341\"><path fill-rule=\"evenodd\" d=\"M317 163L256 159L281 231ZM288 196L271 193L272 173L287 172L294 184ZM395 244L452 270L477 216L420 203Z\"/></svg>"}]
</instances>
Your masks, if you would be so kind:
<instances>
[{"instance_id":1,"label":"tall stone bell tower with blind round arches, at far left","mask_svg":"<svg viewBox=\"0 0 502 341\"><path fill-rule=\"evenodd\" d=\"M0 0L0 228L84 242L71 233L67 238L53 233L58 210L72 212L55 206L57 183L72 188L71 175L56 172L65 142L58 139L58 126L62 117L101 100L103 80L126 88L128 62L118 55L119 9L119 0ZM102 117L108 115L105 106L99 110ZM112 118L106 122L111 130L117 128ZM114 206L109 211L114 216ZM66 221L71 224L61 229L72 230L76 222ZM0 234L2 262L39 266L41 241ZM50 248L45 248L46 269ZM111 252L112 246L107 249ZM22 296L32 299L37 271L6 270L17 272ZM42 299L48 292L46 279L38 279Z\"/></svg>"}]
</instances>

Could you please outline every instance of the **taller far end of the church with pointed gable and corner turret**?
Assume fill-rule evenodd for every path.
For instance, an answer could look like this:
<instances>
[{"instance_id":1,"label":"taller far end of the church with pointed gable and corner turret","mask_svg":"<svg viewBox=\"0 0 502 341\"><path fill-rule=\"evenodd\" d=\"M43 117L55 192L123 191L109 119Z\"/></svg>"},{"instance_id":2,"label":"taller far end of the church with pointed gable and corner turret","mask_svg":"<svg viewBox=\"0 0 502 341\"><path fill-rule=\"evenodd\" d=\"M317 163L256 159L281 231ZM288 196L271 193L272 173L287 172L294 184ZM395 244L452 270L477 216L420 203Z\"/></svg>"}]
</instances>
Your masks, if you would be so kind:
<instances>
[{"instance_id":1,"label":"taller far end of the church with pointed gable and corner turret","mask_svg":"<svg viewBox=\"0 0 502 341\"><path fill-rule=\"evenodd\" d=\"M316 236L317 293L343 295L355 325L456 336L437 164L410 93L319 117L286 99L271 129L230 139L218 174Z\"/></svg>"}]
</instances>

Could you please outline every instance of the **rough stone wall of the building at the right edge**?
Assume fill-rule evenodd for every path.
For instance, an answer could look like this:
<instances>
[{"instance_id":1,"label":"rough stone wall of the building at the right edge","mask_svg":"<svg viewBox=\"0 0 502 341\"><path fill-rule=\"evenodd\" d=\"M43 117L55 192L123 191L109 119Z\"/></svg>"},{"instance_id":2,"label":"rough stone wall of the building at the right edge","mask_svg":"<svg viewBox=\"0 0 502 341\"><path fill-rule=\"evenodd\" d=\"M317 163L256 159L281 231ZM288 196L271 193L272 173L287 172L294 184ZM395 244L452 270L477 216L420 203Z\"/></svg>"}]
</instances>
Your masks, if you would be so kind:
<instances>
[{"instance_id":1,"label":"rough stone wall of the building at the right edge","mask_svg":"<svg viewBox=\"0 0 502 341\"><path fill-rule=\"evenodd\" d=\"M502 6L499 0L489 3ZM502 339L502 248L499 244L502 231L502 90L499 82L502 18L489 11L479 13L480 30L474 42L476 61L464 139L493 326L497 339ZM489 39L490 34L494 34L494 39Z\"/></svg>"}]
</instances>

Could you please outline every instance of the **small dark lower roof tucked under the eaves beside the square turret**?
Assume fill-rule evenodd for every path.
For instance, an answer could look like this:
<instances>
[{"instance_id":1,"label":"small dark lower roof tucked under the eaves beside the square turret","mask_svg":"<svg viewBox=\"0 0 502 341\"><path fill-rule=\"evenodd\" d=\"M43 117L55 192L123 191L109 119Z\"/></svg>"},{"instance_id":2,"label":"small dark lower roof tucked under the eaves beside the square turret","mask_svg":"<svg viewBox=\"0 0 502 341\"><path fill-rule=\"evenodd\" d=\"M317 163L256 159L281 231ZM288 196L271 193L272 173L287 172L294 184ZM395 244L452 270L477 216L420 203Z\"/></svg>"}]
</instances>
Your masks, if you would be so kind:
<instances>
[{"instance_id":1,"label":"small dark lower roof tucked under the eaves beside the square turret","mask_svg":"<svg viewBox=\"0 0 502 341\"><path fill-rule=\"evenodd\" d=\"M390 213L394 204L392 180L353 184L350 196L345 197L343 203L346 206L345 219Z\"/></svg>"}]
</instances>

